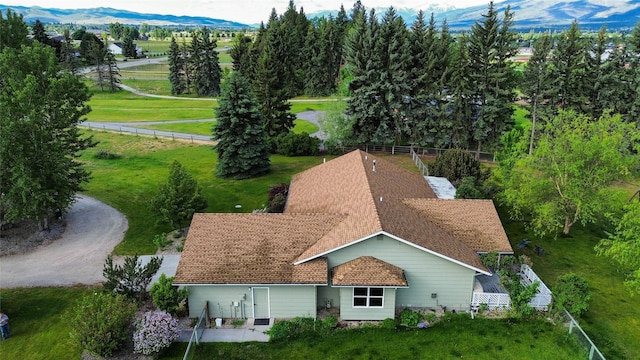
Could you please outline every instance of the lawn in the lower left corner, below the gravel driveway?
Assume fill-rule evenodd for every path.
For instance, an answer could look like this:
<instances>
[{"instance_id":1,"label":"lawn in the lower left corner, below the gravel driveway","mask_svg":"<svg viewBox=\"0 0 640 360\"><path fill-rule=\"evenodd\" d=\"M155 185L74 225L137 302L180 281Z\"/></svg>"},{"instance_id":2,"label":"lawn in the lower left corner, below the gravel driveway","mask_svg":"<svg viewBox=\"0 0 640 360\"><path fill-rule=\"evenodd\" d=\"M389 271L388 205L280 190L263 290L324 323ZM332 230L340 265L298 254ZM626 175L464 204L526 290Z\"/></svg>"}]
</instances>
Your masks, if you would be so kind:
<instances>
[{"instance_id":1,"label":"lawn in the lower left corner, below the gravel driveway","mask_svg":"<svg viewBox=\"0 0 640 360\"><path fill-rule=\"evenodd\" d=\"M93 292L87 287L2 289L12 337L0 342L0 359L80 359L82 349L69 338L63 315Z\"/></svg>"}]
</instances>

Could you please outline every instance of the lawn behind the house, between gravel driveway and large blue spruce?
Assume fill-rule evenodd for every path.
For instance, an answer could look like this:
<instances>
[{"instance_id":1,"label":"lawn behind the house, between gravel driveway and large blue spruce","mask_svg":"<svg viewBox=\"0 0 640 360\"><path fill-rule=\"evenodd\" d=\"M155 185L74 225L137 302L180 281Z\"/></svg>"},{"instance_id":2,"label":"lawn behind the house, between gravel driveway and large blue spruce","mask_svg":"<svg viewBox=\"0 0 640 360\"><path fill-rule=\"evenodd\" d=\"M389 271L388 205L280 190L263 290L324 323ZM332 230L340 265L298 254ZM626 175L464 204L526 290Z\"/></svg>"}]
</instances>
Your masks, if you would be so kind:
<instances>
[{"instance_id":1,"label":"lawn behind the house, between gravel driveway and large blue spruce","mask_svg":"<svg viewBox=\"0 0 640 360\"><path fill-rule=\"evenodd\" d=\"M271 157L271 172L247 180L215 177L216 153L210 145L198 145L170 139L86 130L100 143L85 151L81 160L92 171L85 186L87 195L96 197L124 213L129 230L115 253L152 254L153 236L172 229L156 225L151 199L158 185L167 181L169 165L178 160L202 187L209 201L209 212L251 212L267 202L269 187L289 183L291 176L322 163L321 157ZM121 156L116 160L96 159L98 151ZM236 209L241 205L241 209Z\"/></svg>"}]
</instances>

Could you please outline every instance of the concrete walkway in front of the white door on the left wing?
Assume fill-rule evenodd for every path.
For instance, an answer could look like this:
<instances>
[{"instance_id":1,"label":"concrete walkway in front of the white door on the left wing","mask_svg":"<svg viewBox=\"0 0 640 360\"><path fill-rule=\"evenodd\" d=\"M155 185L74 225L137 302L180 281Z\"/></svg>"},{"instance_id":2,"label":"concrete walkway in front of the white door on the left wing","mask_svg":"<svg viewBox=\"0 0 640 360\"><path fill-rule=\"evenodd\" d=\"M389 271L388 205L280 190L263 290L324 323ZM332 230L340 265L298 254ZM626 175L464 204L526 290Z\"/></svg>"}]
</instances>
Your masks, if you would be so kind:
<instances>
[{"instance_id":1,"label":"concrete walkway in front of the white door on the left wing","mask_svg":"<svg viewBox=\"0 0 640 360\"><path fill-rule=\"evenodd\" d=\"M273 323L273 319L271 319L271 323ZM269 335L264 332L270 328L271 325L253 325L253 319L248 319L247 324L242 328L204 329L200 342L268 342ZM193 329L182 330L176 341L189 342L192 334Z\"/></svg>"}]
</instances>

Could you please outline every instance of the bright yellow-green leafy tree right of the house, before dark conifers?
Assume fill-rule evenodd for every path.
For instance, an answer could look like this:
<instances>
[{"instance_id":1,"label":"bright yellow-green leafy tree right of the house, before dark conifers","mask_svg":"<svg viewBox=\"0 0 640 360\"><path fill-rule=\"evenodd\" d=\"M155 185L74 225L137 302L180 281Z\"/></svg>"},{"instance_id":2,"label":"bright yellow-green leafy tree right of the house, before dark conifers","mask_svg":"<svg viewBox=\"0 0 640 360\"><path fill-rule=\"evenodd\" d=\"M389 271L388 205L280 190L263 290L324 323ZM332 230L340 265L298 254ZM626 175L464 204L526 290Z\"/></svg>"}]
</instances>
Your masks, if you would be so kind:
<instances>
[{"instance_id":1,"label":"bright yellow-green leafy tree right of the house, before dark conifers","mask_svg":"<svg viewBox=\"0 0 640 360\"><path fill-rule=\"evenodd\" d=\"M513 215L530 217L540 236L558 230L567 235L575 223L595 222L612 206L615 190L609 186L638 163L631 148L639 134L619 115L593 121L561 111L546 124L533 154L511 171L504 196Z\"/></svg>"}]
</instances>

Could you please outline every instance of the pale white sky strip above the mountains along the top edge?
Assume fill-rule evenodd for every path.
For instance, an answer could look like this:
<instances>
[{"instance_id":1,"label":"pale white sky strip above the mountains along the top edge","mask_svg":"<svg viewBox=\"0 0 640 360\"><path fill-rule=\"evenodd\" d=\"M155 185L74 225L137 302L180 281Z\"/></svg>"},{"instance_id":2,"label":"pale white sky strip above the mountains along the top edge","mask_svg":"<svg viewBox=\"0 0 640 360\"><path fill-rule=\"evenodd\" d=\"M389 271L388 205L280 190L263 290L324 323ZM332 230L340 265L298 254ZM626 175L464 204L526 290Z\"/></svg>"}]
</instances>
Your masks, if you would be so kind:
<instances>
[{"instance_id":1,"label":"pale white sky strip above the mountains along the top edge","mask_svg":"<svg viewBox=\"0 0 640 360\"><path fill-rule=\"evenodd\" d=\"M298 0L296 8L304 8L310 14L319 10L339 9L340 4L349 11L356 0ZM395 8L426 9L430 4L438 3L449 7L463 8L473 5L486 5L489 0L361 0L366 8L393 6ZM500 1L494 1L495 3ZM3 5L40 6L46 8L77 9L110 7L141 13L205 16L216 19L232 20L245 24L267 21L271 9L278 14L284 13L289 0L0 0Z\"/></svg>"}]
</instances>

